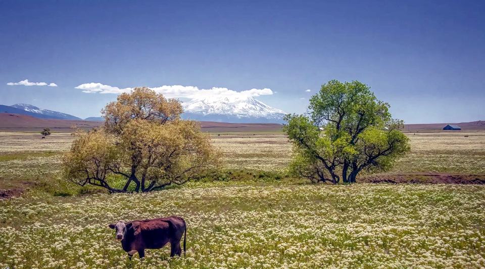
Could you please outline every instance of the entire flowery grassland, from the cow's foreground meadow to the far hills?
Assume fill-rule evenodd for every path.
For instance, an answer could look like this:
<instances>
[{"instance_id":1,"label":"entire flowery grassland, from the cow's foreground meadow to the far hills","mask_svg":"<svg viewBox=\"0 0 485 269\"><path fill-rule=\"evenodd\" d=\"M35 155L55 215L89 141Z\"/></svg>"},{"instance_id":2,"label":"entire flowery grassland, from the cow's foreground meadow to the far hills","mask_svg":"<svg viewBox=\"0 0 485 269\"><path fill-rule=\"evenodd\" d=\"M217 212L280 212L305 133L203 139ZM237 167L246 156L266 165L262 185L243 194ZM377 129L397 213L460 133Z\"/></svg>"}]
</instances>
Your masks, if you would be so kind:
<instances>
[{"instance_id":1,"label":"entire flowery grassland, from the cow's foreground meadow to the far hills","mask_svg":"<svg viewBox=\"0 0 485 269\"><path fill-rule=\"evenodd\" d=\"M468 136L465 138L465 136ZM227 169L281 171L282 133L215 133ZM409 134L412 151L391 173L485 174L485 132ZM60 176L72 137L0 132L0 268L481 268L485 186L279 181L190 183L107 195ZM93 194L94 193L94 194ZM67 196L67 197L63 197ZM132 262L109 223L180 215L186 257L169 247Z\"/></svg>"}]
</instances>

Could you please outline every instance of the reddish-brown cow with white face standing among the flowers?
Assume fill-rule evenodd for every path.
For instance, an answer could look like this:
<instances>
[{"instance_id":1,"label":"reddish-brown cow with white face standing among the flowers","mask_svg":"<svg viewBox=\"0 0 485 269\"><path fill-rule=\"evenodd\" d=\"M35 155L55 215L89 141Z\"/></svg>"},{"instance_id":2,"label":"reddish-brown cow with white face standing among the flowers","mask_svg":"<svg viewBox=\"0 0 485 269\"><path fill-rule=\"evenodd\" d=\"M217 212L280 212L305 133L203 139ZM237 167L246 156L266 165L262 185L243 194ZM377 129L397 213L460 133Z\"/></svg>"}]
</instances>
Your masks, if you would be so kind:
<instances>
[{"instance_id":1,"label":"reddish-brown cow with white face standing among the flowers","mask_svg":"<svg viewBox=\"0 0 485 269\"><path fill-rule=\"evenodd\" d=\"M187 225L178 216L134 220L130 222L118 221L110 224L109 228L116 229L116 240L131 257L138 252L140 259L145 256L145 249L158 249L170 243L170 257L180 255L180 239L183 235L183 253L185 255L185 239Z\"/></svg>"}]
</instances>

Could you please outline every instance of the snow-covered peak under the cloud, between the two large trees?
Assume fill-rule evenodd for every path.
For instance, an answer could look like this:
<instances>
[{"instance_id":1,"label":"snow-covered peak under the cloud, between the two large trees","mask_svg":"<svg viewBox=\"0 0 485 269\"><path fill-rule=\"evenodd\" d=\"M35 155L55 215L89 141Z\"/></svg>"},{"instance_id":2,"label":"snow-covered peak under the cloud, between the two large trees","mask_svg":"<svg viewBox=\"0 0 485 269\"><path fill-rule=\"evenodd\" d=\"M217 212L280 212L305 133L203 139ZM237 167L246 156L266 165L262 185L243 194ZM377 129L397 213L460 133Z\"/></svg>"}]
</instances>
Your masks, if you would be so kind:
<instances>
[{"instance_id":1,"label":"snow-covered peak under the cloud, between the two large trees","mask_svg":"<svg viewBox=\"0 0 485 269\"><path fill-rule=\"evenodd\" d=\"M201 121L282 123L283 111L253 97L214 96L182 103L185 118Z\"/></svg>"}]
</instances>

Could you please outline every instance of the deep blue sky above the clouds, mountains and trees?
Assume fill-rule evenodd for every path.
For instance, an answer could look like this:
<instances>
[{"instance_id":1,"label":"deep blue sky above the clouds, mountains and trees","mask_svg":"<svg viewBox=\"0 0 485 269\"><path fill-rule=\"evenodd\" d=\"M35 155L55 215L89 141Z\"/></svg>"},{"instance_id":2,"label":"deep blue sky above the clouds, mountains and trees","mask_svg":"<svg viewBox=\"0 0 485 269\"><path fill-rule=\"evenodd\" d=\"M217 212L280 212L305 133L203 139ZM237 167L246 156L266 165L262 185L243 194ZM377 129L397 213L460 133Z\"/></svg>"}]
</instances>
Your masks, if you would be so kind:
<instances>
[{"instance_id":1,"label":"deep blue sky above the clouds, mountains and trees","mask_svg":"<svg viewBox=\"0 0 485 269\"><path fill-rule=\"evenodd\" d=\"M267 88L258 100L303 113L338 79L407 123L485 120L483 14L485 1L1 1L0 104L84 118L116 94L79 85L182 85ZM7 85L25 79L57 86Z\"/></svg>"}]
</instances>

